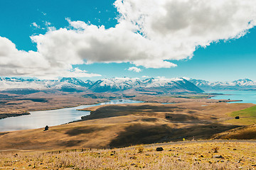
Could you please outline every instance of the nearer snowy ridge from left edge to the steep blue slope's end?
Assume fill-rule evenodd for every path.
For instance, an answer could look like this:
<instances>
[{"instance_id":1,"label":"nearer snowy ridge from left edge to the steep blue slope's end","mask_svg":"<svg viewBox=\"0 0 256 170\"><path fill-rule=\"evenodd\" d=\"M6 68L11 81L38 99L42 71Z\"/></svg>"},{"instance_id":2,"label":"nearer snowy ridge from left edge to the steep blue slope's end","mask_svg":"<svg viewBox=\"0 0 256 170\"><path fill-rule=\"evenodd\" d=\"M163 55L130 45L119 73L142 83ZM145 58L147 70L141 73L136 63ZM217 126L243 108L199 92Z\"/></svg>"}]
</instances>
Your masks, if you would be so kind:
<instances>
[{"instance_id":1,"label":"nearer snowy ridge from left edge to the steep blue slope's end","mask_svg":"<svg viewBox=\"0 0 256 170\"><path fill-rule=\"evenodd\" d=\"M0 90L7 89L57 89L72 92L90 90L94 92L113 92L134 89L136 91L161 91L161 92L203 92L190 81L183 78L165 79L150 78L140 80L137 78L113 78L100 79L97 81L82 81L76 78L64 77L58 80L0 78Z\"/></svg>"}]
</instances>

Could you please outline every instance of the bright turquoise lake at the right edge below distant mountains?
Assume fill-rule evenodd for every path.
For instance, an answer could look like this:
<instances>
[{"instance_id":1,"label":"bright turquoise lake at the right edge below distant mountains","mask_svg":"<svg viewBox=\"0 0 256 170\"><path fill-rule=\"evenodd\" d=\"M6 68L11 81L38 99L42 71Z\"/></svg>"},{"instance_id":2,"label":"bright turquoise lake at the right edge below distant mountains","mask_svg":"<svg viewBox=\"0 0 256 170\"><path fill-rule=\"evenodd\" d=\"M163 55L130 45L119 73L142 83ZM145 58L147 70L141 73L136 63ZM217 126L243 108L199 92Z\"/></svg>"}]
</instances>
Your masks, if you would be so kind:
<instances>
[{"instance_id":1,"label":"bright turquoise lake at the right edge below distant mountains","mask_svg":"<svg viewBox=\"0 0 256 170\"><path fill-rule=\"evenodd\" d=\"M230 100L242 100L232 103L255 103L256 104L256 91L210 91L207 93L218 93L225 95L218 95L212 97L213 99L230 99Z\"/></svg>"}]
</instances>

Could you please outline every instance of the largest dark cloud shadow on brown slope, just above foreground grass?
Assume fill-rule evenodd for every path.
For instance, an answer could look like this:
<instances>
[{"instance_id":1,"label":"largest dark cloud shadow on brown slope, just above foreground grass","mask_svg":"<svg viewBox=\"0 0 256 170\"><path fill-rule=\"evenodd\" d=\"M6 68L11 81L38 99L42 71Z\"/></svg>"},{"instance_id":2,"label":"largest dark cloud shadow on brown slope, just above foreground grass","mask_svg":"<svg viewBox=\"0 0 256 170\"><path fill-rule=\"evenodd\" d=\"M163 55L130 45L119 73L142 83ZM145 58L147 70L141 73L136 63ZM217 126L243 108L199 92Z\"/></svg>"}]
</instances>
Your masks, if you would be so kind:
<instances>
[{"instance_id":1,"label":"largest dark cloud shadow on brown slope, just above foreground grass","mask_svg":"<svg viewBox=\"0 0 256 170\"><path fill-rule=\"evenodd\" d=\"M181 141L183 138L209 139L226 130L238 128L237 125L193 125L188 128L170 128L168 125L141 125L135 124L125 128L110 142L110 147L129 147L131 145L151 144L156 142Z\"/></svg>"}]
</instances>

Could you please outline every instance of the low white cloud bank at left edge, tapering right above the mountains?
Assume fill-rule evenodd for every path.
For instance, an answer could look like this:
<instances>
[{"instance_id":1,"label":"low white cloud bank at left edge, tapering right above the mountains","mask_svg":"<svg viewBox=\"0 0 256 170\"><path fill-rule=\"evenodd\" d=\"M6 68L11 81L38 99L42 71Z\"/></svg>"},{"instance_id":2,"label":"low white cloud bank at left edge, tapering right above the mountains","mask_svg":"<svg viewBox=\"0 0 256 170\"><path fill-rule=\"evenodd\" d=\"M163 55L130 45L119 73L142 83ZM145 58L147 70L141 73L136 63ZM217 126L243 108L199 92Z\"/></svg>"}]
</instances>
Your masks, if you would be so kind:
<instances>
[{"instance_id":1,"label":"low white cloud bank at left edge, tapering right above the mountains","mask_svg":"<svg viewBox=\"0 0 256 170\"><path fill-rule=\"evenodd\" d=\"M41 77L46 79L100 76L100 74L90 74L77 68L73 69L70 63L55 64L40 52L17 50L13 42L1 37L0 72L1 76Z\"/></svg>"}]
</instances>

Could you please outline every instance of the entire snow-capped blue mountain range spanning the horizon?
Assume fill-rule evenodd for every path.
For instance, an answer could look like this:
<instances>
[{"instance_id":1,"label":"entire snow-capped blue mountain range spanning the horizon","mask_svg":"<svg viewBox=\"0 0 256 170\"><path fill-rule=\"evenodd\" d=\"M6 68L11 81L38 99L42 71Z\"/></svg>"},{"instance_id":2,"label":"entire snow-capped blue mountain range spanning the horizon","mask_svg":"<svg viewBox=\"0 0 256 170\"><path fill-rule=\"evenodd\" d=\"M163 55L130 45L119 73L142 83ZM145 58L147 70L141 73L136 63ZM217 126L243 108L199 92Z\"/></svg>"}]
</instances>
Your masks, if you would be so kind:
<instances>
[{"instance_id":1,"label":"entire snow-capped blue mountain range spanning the horizon","mask_svg":"<svg viewBox=\"0 0 256 170\"><path fill-rule=\"evenodd\" d=\"M16 77L0 78L0 91L45 91L59 90L66 92L93 91L96 93L114 91L154 91L161 93L188 92L200 93L203 91L223 91L223 90L246 90L256 89L256 81L250 79L239 79L237 81L215 81L210 82L201 79L187 78L113 78L99 79L97 81L82 81L76 78L64 77L56 80L23 79Z\"/></svg>"}]
</instances>

